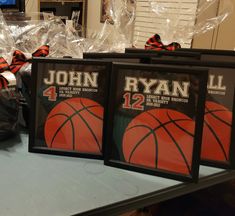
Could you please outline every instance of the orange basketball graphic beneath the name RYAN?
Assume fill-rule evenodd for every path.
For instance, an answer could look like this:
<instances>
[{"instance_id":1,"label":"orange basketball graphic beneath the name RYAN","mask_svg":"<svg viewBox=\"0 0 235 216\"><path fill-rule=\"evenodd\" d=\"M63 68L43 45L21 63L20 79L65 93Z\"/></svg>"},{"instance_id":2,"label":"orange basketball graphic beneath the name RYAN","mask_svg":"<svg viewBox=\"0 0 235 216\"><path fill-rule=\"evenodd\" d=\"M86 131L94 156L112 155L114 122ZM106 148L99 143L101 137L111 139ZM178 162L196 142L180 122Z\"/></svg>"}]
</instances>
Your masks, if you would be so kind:
<instances>
[{"instance_id":1,"label":"orange basketball graphic beneath the name RYAN","mask_svg":"<svg viewBox=\"0 0 235 216\"><path fill-rule=\"evenodd\" d=\"M134 118L125 130L125 161L182 174L191 173L195 122L170 109L152 109Z\"/></svg>"}]
</instances>

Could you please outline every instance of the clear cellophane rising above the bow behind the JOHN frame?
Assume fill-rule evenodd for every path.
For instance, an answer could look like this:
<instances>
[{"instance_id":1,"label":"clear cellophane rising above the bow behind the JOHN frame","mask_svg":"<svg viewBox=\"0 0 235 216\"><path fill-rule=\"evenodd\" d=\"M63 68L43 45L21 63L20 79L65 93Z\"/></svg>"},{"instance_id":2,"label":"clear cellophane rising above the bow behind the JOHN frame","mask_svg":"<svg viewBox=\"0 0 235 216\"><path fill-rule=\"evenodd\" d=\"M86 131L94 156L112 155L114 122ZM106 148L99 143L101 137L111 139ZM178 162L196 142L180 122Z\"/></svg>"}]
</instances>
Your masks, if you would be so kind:
<instances>
[{"instance_id":1,"label":"clear cellophane rising above the bow behind the JOHN frame","mask_svg":"<svg viewBox=\"0 0 235 216\"><path fill-rule=\"evenodd\" d=\"M76 36L58 17L47 13L5 14L16 49L30 56L38 48L49 46L50 57L82 57ZM17 19L17 17L20 17Z\"/></svg>"}]
</instances>

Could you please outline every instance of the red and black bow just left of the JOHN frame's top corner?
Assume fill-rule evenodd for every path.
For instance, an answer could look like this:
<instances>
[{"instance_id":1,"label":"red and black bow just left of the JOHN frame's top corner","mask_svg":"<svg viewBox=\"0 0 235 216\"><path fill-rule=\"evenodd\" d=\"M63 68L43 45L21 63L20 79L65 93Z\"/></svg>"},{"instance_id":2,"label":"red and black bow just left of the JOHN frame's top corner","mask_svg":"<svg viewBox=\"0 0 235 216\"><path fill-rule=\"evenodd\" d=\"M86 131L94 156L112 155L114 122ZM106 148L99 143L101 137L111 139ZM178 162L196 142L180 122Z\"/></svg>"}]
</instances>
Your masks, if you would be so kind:
<instances>
[{"instance_id":1,"label":"red and black bow just left of the JOHN frame's top corner","mask_svg":"<svg viewBox=\"0 0 235 216\"><path fill-rule=\"evenodd\" d=\"M46 57L49 54L49 46L41 46L36 52L32 54L33 57ZM21 67L29 62L31 59L27 59L24 53L20 50L16 50L13 53L13 59L10 65L10 70L12 73L17 73Z\"/></svg>"}]
</instances>

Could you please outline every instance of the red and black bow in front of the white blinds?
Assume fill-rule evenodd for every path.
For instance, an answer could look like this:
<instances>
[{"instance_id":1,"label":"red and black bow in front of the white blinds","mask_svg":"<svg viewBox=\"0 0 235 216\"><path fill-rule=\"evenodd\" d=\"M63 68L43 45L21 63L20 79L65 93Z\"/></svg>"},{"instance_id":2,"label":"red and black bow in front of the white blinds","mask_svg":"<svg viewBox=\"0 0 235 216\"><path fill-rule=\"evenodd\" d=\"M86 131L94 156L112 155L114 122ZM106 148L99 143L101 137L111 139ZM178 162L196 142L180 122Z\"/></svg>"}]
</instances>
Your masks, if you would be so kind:
<instances>
[{"instance_id":1,"label":"red and black bow in front of the white blinds","mask_svg":"<svg viewBox=\"0 0 235 216\"><path fill-rule=\"evenodd\" d=\"M145 44L146 50L168 50L168 51L174 51L178 48L181 48L181 45L177 42L173 42L169 45L164 45L162 43L161 37L158 34L153 35L151 38L148 39L148 41Z\"/></svg>"}]
</instances>

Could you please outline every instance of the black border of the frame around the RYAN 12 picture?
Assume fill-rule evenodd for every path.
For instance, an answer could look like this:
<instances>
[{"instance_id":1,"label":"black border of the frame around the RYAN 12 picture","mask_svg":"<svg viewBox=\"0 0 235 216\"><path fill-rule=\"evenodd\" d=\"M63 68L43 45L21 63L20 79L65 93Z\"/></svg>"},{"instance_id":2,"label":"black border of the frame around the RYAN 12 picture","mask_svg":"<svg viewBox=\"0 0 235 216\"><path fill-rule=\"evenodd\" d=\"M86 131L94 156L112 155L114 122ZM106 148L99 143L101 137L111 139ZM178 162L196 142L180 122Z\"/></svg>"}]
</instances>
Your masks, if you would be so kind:
<instances>
[{"instance_id":1,"label":"black border of the frame around the RYAN 12 picture","mask_svg":"<svg viewBox=\"0 0 235 216\"><path fill-rule=\"evenodd\" d=\"M120 70L123 70L120 72ZM199 84L199 92L197 94L200 97L200 100L197 100L197 111L195 114L196 118L196 126L195 126L195 138L193 144L193 153L192 153L192 170L189 175L183 175L181 173L174 173L167 170L157 169L157 168L149 168L143 167L139 165L134 165L128 162L121 160L120 158L115 158L115 154L117 153L115 149L117 149L114 140L117 137L114 136L114 128L115 122L118 119L117 115L117 104L120 102L120 98L117 97L117 93L119 94L118 88L120 87L120 83L117 84L118 76L120 73L124 73L125 70L132 71L136 76L140 73L141 77L144 77L141 71L148 71L157 76L157 74L187 74L188 76L197 77ZM146 72L147 73L147 72ZM113 70L111 74L111 85L110 85L110 95L109 95L109 103L105 112L105 125L104 125L104 144L105 144L105 157L104 164L112 167L122 168L130 171L136 171L141 173L146 173L150 175L156 175L166 178L171 178L179 181L188 181L188 182L197 182L199 175L199 162L200 162L200 144L202 138L202 123L203 123L203 115L204 115L204 105L205 105L205 92L206 92L206 83L207 83L207 70L202 69L186 69L182 67L158 67L154 65L146 65L146 64L128 64L128 63L113 63ZM123 92L120 93L123 95ZM121 97L120 96L120 97ZM119 101L119 102L117 102ZM119 104L120 105L120 104ZM120 114L120 113L119 113ZM122 134L123 135L123 134ZM118 137L118 139L122 139ZM117 155L117 154L116 154Z\"/></svg>"}]
</instances>

